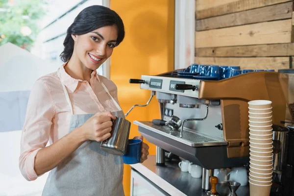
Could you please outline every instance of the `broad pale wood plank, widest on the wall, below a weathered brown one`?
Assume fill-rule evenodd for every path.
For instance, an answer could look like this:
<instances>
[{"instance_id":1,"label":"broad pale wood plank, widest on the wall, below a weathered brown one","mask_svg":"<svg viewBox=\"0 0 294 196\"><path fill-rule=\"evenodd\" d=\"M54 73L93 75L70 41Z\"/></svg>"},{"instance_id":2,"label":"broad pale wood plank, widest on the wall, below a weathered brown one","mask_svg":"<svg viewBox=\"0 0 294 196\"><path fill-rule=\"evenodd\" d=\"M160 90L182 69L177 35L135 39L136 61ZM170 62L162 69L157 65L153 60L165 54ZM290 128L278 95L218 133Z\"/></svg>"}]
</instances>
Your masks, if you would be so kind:
<instances>
[{"instance_id":1,"label":"broad pale wood plank, widest on the wall, below a weathered brown one","mask_svg":"<svg viewBox=\"0 0 294 196\"><path fill-rule=\"evenodd\" d=\"M196 31L196 48L291 43L292 19Z\"/></svg>"}]
</instances>

